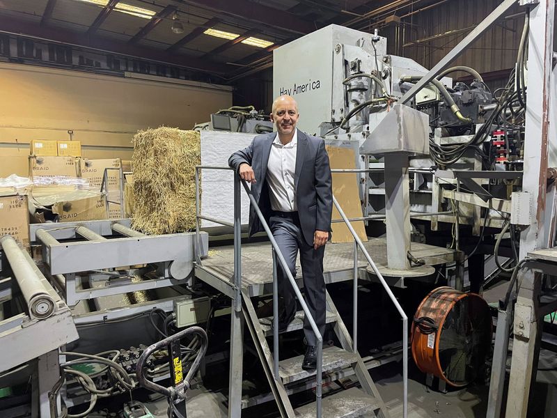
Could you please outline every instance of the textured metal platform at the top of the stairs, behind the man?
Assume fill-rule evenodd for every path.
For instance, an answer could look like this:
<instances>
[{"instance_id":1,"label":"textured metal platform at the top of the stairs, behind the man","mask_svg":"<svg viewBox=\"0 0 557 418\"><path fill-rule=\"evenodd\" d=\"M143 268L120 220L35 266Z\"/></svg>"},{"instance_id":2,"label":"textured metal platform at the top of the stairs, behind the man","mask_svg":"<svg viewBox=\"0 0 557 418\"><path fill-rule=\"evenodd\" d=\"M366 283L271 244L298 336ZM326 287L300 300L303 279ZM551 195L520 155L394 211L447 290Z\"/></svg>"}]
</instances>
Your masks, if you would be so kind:
<instances>
[{"instance_id":1,"label":"textured metal platform at the top of the stairs, behind the man","mask_svg":"<svg viewBox=\"0 0 557 418\"><path fill-rule=\"evenodd\" d=\"M363 243L370 253L379 270L385 272L386 276L394 277L391 270L386 268L386 239L370 238ZM352 243L327 244L323 259L324 278L327 284L338 281L352 280L352 269L354 246ZM434 245L411 243L411 254L425 261L426 266L441 265L455 261L455 250L435 247ZM371 274L366 272L368 263L359 252L358 265L360 268L360 279L372 279ZM271 245L269 242L251 243L242 245L242 287L249 291L250 296L260 296L272 293L273 263L271 258ZM429 272L423 266L409 270L407 274L400 272L402 277L408 279L414 276L414 270ZM297 262L297 282L301 286L301 267ZM222 293L233 297L233 273L234 273L234 247L232 245L213 247L209 256L203 259L202 265L196 265L196 277L207 282ZM418 274L423 277L424 274ZM419 279L419 277L418 277ZM398 283L398 282L397 282ZM395 283L393 283L394 285Z\"/></svg>"}]
</instances>

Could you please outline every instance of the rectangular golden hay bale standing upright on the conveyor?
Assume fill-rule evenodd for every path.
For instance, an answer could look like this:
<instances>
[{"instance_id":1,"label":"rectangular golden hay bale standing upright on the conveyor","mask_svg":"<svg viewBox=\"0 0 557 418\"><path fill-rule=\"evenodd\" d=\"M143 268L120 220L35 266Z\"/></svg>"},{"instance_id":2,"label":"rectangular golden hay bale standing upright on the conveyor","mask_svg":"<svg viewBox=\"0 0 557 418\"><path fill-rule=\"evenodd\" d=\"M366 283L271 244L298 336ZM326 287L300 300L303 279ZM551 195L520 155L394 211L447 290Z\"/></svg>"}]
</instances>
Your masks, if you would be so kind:
<instances>
[{"instance_id":1,"label":"rectangular golden hay bale standing upright on the conveyor","mask_svg":"<svg viewBox=\"0 0 557 418\"><path fill-rule=\"evenodd\" d=\"M201 135L171 127L134 136L134 229L149 234L195 227L195 166L201 164Z\"/></svg>"}]
</instances>

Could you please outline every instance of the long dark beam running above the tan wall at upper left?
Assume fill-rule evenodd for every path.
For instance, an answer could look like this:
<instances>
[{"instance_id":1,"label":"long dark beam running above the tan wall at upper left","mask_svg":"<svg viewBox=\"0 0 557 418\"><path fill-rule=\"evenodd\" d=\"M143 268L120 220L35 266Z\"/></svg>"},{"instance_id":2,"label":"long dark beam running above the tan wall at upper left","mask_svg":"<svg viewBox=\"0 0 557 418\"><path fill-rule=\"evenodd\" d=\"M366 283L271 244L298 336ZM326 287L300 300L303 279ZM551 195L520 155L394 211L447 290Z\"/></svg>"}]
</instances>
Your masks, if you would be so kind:
<instances>
[{"instance_id":1,"label":"long dark beam running above the tan wall at upper left","mask_svg":"<svg viewBox=\"0 0 557 418\"><path fill-rule=\"evenodd\" d=\"M95 49L102 52L112 52L136 59L148 59L168 65L177 65L182 68L190 68L211 74L227 74L235 70L232 65L223 63L212 63L193 56L171 54L159 49L141 47L140 45L129 45L119 40L100 38L99 36L88 36L86 33L75 33L61 28L51 26L40 26L12 17L0 16L0 33L10 33L20 36L29 36L48 42L59 42L76 47Z\"/></svg>"}]
</instances>

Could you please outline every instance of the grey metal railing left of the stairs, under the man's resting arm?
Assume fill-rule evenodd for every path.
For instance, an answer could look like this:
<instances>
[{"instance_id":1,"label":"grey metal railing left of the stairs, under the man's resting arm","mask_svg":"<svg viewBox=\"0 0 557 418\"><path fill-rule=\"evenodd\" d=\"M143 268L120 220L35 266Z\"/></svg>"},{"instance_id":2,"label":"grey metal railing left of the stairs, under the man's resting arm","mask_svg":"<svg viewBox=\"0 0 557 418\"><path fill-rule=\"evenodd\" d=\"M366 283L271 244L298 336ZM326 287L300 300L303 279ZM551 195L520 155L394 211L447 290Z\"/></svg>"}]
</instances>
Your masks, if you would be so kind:
<instances>
[{"instance_id":1,"label":"grey metal railing left of the stairs, under the man's resting arm","mask_svg":"<svg viewBox=\"0 0 557 418\"><path fill-rule=\"evenodd\" d=\"M198 245L198 236L199 236L199 219L207 219L207 217L203 217L199 212L199 170L200 169L217 169L217 170L232 170L230 167L211 167L211 166L196 166L196 245ZM311 330L313 334L315 334L315 340L317 342L317 367L315 373L315 398L316 398L316 417L322 417L322 408L321 408L321 401L322 401L322 374L323 374L323 337L321 336L319 330L317 329L317 325L315 324L315 320L313 320L313 316L311 316L306 301L304 297L301 295L299 291L298 285L294 277L292 277L292 273L286 264L286 261L278 248L278 244L273 237L271 229L269 229L269 225L263 216L256 199L251 194L251 190L249 189L245 180L241 180L240 176L237 173L234 173L234 287L235 287L235 309L237 311L242 310L242 300L240 291L242 288L242 258L241 258L241 246L242 246L242 235L241 235L241 226L242 222L240 219L240 208L241 208L241 201L240 201L240 183L244 186L244 190L246 194L248 194L251 204L253 208L256 210L256 214L267 233L267 237L272 245L272 256L273 256L273 376L275 380L280 380L281 376L278 373L278 277L276 274L276 258L278 258L278 262L281 263L281 267L286 272L288 277L288 281L290 281L290 286L294 290L294 293L297 299L300 302L301 309L304 311L304 315L308 318L309 323L311 325ZM215 222L222 225L230 225L230 222L224 222L219 219L210 218L207 219L211 222ZM196 251L196 257L198 256ZM201 264L201 258L198 259L198 262Z\"/></svg>"}]
</instances>

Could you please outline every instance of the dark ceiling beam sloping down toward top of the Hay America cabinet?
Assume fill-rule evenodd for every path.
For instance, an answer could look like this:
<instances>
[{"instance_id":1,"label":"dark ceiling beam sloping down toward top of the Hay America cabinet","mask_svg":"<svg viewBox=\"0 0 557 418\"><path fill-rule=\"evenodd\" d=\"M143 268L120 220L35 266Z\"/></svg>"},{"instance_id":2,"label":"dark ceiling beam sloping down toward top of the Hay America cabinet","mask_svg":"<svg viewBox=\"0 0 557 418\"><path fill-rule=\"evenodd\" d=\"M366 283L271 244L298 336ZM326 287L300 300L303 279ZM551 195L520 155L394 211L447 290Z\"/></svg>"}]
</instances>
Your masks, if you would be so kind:
<instances>
[{"instance_id":1,"label":"dark ceiling beam sloping down toward top of the Hay America cabinet","mask_svg":"<svg viewBox=\"0 0 557 418\"><path fill-rule=\"evenodd\" d=\"M294 13L265 6L255 1L184 0L184 3L209 9L216 13L233 16L240 20L258 22L284 31L301 33L303 35L317 29L314 22L308 22L307 20L300 19Z\"/></svg>"}]
</instances>

